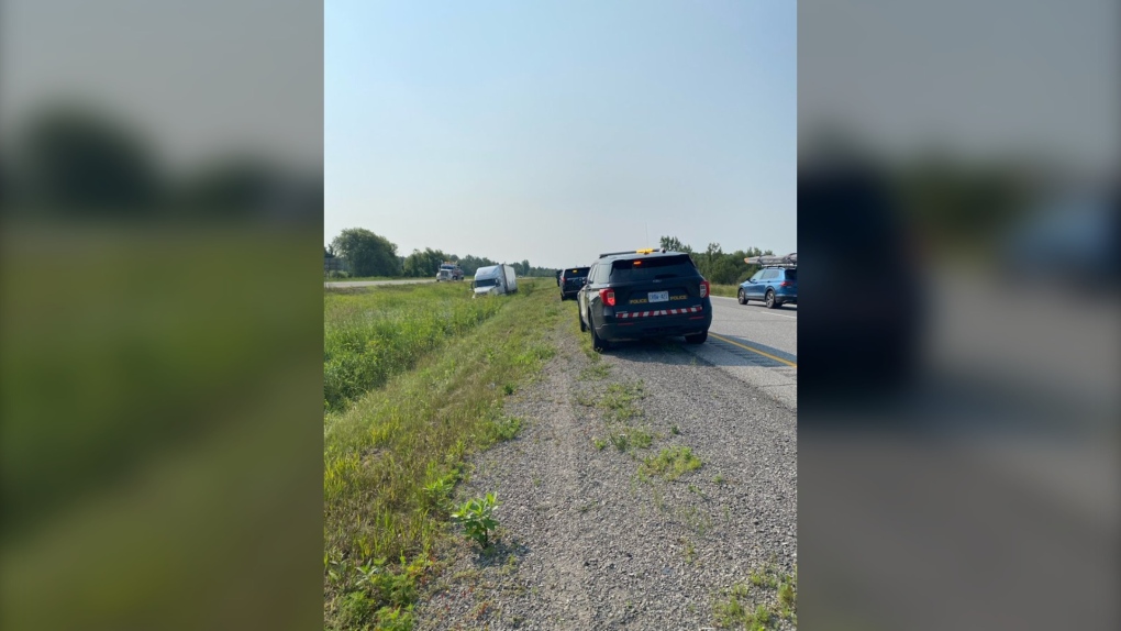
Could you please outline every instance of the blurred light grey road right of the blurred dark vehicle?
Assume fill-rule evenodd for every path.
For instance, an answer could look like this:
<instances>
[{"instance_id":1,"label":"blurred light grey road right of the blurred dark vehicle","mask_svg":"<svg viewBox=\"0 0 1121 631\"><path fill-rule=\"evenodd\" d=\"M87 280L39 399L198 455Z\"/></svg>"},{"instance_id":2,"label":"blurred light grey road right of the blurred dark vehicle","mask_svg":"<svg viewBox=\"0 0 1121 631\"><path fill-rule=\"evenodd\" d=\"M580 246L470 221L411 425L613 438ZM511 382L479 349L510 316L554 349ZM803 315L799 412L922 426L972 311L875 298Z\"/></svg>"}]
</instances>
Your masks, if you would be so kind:
<instances>
[{"instance_id":1,"label":"blurred light grey road right of the blurred dark vehicle","mask_svg":"<svg viewBox=\"0 0 1121 631\"><path fill-rule=\"evenodd\" d=\"M926 368L975 383L1048 393L1075 406L1056 417L1121 418L1121 300L1073 299L980 272L935 270L928 284ZM1088 420L1088 419L1087 419ZM1114 426L1117 423L1114 420Z\"/></svg>"}]
</instances>

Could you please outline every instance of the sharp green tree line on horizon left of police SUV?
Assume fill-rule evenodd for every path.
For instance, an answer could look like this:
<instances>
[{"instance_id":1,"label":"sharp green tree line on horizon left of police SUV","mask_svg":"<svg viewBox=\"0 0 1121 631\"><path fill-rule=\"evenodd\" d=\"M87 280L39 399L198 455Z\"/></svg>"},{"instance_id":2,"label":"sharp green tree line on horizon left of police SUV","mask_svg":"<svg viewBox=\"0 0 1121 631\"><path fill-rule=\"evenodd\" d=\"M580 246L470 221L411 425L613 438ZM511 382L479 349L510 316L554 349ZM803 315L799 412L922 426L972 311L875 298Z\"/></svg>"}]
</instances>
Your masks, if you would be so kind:
<instances>
[{"instance_id":1,"label":"sharp green tree line on horizon left of police SUV","mask_svg":"<svg viewBox=\"0 0 1121 631\"><path fill-rule=\"evenodd\" d=\"M324 247L325 259L341 258L352 276L390 276L425 278L436 276L444 261L452 261L463 268L464 276L474 276L481 267L497 266L500 261L487 257L466 254L460 257L443 250L413 250L408 256L397 253L397 244L385 236L374 234L364 228L349 228ZM515 273L521 277L539 276L552 278L553 268L534 267L528 260L509 263ZM325 266L326 267L326 266Z\"/></svg>"}]
</instances>

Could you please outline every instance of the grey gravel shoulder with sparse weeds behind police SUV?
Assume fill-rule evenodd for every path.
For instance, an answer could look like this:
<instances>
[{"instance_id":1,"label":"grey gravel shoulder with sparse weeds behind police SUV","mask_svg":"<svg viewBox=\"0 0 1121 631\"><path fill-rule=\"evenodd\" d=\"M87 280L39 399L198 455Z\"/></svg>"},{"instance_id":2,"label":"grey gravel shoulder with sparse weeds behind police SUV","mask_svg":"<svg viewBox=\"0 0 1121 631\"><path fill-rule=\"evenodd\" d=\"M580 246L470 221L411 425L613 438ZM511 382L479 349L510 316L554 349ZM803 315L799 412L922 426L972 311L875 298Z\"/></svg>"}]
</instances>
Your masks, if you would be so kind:
<instances>
[{"instance_id":1,"label":"grey gravel shoulder with sparse weeds behind police SUV","mask_svg":"<svg viewBox=\"0 0 1121 631\"><path fill-rule=\"evenodd\" d=\"M695 630L752 570L794 570L796 412L677 343L595 361L568 323L554 335L556 356L507 401L521 433L456 492L498 493L498 542L441 551L454 562L417 629ZM677 447L700 468L667 480L642 464Z\"/></svg>"}]
</instances>

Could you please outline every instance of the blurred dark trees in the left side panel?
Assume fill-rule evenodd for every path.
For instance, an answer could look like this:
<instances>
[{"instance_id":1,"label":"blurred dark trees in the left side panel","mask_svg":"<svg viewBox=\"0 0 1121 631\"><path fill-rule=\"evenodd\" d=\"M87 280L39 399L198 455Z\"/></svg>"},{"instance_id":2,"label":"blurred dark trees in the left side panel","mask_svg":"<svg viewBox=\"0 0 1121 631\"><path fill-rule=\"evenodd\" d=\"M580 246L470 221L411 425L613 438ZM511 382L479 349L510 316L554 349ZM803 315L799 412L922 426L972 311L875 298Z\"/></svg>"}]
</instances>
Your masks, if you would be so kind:
<instances>
[{"instance_id":1,"label":"blurred dark trees in the left side panel","mask_svg":"<svg viewBox=\"0 0 1121 631\"><path fill-rule=\"evenodd\" d=\"M291 171L262 155L172 168L151 134L122 113L65 102L11 127L0 198L13 215L322 221L322 174Z\"/></svg>"}]
</instances>

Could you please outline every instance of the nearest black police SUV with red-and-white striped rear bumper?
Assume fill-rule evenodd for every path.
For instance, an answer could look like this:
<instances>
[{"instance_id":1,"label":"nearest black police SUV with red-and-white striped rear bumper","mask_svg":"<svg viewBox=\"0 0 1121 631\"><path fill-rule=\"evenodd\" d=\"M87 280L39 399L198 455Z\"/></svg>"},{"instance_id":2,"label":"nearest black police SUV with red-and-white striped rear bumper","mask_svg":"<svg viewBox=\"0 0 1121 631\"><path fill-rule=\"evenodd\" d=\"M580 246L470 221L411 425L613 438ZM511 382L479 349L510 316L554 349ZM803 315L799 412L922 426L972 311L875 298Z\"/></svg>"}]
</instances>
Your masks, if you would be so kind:
<instances>
[{"instance_id":1,"label":"nearest black police SUV with red-and-white striped rear bumper","mask_svg":"<svg viewBox=\"0 0 1121 631\"><path fill-rule=\"evenodd\" d=\"M580 330L592 346L611 342L684 335L689 344L708 338L708 281L684 252L637 250L600 254L578 294Z\"/></svg>"}]
</instances>

